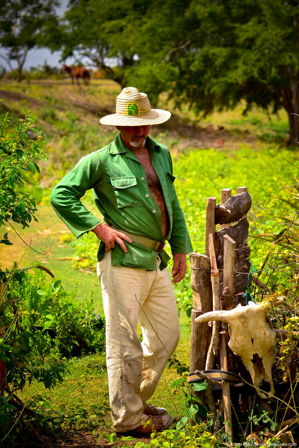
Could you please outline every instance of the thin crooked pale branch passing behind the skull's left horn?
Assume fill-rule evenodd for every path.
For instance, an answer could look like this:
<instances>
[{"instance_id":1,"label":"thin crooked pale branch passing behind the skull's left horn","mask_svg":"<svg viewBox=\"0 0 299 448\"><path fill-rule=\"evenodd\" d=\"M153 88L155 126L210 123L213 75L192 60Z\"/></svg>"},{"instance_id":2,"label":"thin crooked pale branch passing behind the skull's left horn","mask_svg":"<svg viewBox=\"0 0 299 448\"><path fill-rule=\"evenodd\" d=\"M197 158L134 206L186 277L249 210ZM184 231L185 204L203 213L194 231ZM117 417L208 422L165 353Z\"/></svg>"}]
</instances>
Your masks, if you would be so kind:
<instances>
[{"instance_id":1,"label":"thin crooked pale branch passing behind the skull's left horn","mask_svg":"<svg viewBox=\"0 0 299 448\"><path fill-rule=\"evenodd\" d=\"M213 311L220 311L221 310L221 289L220 289L220 279L219 279L219 271L217 269L217 262L216 262L216 255L214 250L214 243L213 243L213 235L210 233L209 235L209 253L210 253L210 260L211 260L211 281L212 281L212 292L213 292ZM218 349L219 349L219 343L220 343L220 327L221 323L214 321L213 322L213 329L212 329L212 338L211 343L208 349L208 356L206 361L205 370L213 370L214 368L214 361L215 357L217 355Z\"/></svg>"}]
</instances>

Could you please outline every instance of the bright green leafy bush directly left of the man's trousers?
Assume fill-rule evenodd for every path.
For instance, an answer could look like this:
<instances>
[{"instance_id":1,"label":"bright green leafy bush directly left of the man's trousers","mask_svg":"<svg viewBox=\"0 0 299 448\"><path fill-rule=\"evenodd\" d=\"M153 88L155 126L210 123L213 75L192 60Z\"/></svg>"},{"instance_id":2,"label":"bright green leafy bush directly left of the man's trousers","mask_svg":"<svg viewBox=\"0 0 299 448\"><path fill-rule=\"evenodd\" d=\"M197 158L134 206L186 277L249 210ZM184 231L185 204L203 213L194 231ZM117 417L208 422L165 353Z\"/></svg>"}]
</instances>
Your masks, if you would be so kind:
<instances>
[{"instance_id":1,"label":"bright green leafy bush directly left of the man's trousers","mask_svg":"<svg viewBox=\"0 0 299 448\"><path fill-rule=\"evenodd\" d=\"M48 353L55 348L58 357L104 349L104 323L93 310L92 293L86 302L78 302L76 288L68 293L61 280L46 282L45 276L36 270L15 291L22 297L22 327L48 333L52 337ZM46 349L43 354L47 354Z\"/></svg>"}]
</instances>

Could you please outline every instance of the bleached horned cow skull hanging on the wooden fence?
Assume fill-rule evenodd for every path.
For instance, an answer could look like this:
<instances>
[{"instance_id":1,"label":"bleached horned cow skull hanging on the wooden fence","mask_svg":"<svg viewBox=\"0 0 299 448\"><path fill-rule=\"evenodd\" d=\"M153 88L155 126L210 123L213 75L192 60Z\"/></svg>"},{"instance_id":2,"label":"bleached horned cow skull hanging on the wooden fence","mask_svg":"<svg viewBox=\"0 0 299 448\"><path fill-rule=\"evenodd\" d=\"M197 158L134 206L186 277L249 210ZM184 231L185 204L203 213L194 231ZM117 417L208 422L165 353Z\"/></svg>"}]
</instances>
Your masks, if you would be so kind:
<instances>
[{"instance_id":1,"label":"bleached horned cow skull hanging on the wooden fence","mask_svg":"<svg viewBox=\"0 0 299 448\"><path fill-rule=\"evenodd\" d=\"M262 379L270 383L269 394L275 393L271 369L274 364L273 347L276 344L277 333L267 325L267 313L283 302L278 300L261 305L248 302L247 306L239 304L233 310L211 311L195 319L198 323L217 320L229 324L229 347L242 358L244 366L250 372L256 392L262 398L267 398L259 389Z\"/></svg>"}]
</instances>

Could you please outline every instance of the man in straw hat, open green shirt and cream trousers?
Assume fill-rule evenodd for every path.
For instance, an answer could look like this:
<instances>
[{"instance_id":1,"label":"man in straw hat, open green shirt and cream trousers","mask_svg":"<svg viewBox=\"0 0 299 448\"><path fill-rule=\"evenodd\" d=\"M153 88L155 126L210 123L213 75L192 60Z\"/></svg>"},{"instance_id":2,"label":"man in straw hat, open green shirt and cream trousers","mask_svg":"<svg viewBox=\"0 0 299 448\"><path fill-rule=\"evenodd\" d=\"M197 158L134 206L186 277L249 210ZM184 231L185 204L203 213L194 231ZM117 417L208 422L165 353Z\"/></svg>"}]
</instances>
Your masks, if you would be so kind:
<instances>
[{"instance_id":1,"label":"man in straw hat, open green shirt and cream trousers","mask_svg":"<svg viewBox=\"0 0 299 448\"><path fill-rule=\"evenodd\" d=\"M148 137L151 125L170 115L151 109L147 95L136 88L123 89L116 113L100 120L116 125L120 134L83 157L50 197L76 238L92 231L101 241L97 273L106 319L109 397L113 427L120 433L150 434L173 423L166 409L147 404L180 337L164 241L173 254L174 283L184 278L186 254L192 251L173 186L171 156ZM80 202L91 188L105 224Z\"/></svg>"}]
</instances>

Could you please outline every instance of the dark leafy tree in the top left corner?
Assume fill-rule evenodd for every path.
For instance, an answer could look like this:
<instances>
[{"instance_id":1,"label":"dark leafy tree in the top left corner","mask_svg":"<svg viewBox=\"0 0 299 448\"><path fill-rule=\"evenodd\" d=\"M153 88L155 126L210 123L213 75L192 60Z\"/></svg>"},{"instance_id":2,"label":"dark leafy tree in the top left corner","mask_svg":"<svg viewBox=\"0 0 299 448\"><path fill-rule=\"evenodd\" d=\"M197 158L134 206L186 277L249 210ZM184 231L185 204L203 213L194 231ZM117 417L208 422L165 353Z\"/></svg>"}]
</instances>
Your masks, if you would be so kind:
<instances>
[{"instance_id":1,"label":"dark leafy tree in the top left corner","mask_svg":"<svg viewBox=\"0 0 299 448\"><path fill-rule=\"evenodd\" d=\"M18 82L28 51L39 44L39 32L55 18L58 5L58 0L0 0L0 45L6 49L6 55L0 56L11 70L11 61L17 62Z\"/></svg>"}]
</instances>

